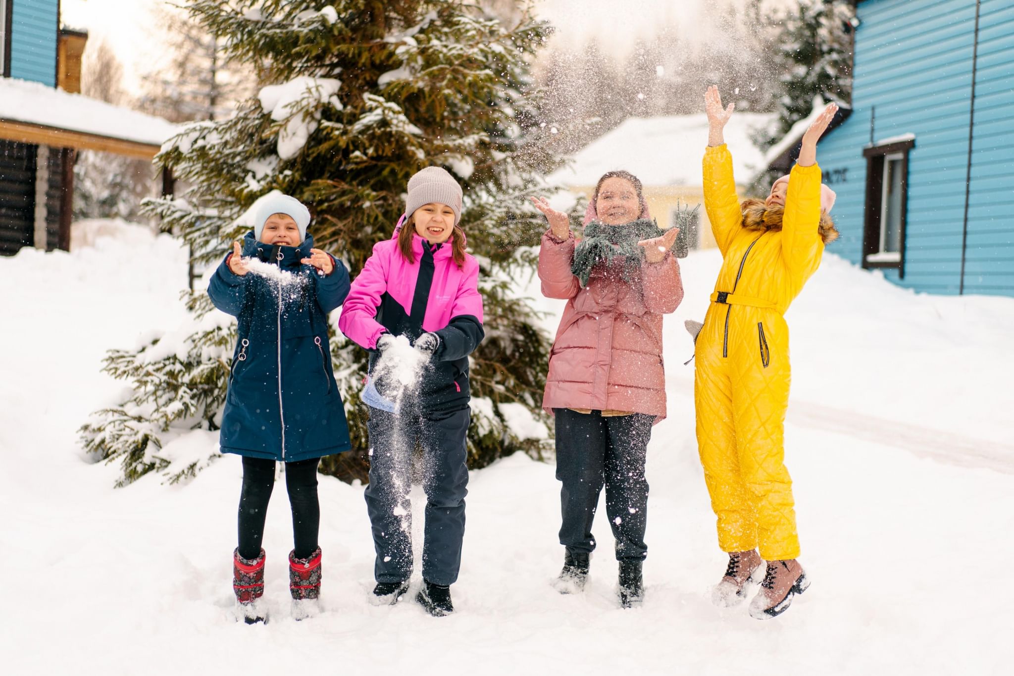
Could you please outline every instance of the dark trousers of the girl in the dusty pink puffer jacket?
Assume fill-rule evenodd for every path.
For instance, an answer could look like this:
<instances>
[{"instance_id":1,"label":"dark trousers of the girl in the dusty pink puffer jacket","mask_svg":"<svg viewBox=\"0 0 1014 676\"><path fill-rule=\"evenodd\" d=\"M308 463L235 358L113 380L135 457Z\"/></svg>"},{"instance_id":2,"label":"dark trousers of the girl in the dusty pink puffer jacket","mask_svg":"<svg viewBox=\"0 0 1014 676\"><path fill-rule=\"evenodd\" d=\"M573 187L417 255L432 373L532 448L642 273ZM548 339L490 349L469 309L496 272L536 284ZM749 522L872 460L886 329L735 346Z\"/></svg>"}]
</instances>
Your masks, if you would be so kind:
<instances>
[{"instance_id":1,"label":"dark trousers of the girl in the dusty pink puffer jacket","mask_svg":"<svg viewBox=\"0 0 1014 676\"><path fill-rule=\"evenodd\" d=\"M557 424L557 478L563 482L560 544L572 552L595 548L591 524L605 486L605 513L617 540L618 560L644 560L648 545L648 481L645 455L654 416L602 417L554 408Z\"/></svg>"}]
</instances>

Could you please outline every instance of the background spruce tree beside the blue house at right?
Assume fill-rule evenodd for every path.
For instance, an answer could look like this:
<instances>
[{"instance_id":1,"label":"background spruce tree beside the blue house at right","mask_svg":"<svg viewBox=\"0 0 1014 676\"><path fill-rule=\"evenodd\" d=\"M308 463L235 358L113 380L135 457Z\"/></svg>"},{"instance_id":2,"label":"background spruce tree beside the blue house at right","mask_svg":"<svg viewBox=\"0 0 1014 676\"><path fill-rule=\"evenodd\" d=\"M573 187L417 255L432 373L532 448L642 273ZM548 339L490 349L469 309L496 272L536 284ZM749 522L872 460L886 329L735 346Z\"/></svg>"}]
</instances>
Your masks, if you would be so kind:
<instances>
[{"instance_id":1,"label":"background spruce tree beside the blue house at right","mask_svg":"<svg viewBox=\"0 0 1014 676\"><path fill-rule=\"evenodd\" d=\"M772 15L770 28L780 48L774 68L780 73L775 111L777 127L757 141L768 147L810 114L813 98L852 100L852 50L855 6L849 0L798 0Z\"/></svg>"}]
</instances>

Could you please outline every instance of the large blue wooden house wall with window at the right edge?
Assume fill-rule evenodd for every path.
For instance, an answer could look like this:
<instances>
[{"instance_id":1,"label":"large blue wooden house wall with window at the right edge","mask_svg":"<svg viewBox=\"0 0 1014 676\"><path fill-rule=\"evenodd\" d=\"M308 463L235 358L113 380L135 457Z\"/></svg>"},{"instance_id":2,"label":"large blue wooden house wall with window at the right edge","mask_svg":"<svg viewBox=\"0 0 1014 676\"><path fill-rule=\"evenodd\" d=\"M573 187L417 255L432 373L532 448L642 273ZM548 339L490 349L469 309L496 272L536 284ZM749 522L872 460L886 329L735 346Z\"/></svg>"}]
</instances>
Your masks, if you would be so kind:
<instances>
[{"instance_id":1,"label":"large blue wooden house wall with window at the right edge","mask_svg":"<svg viewBox=\"0 0 1014 676\"><path fill-rule=\"evenodd\" d=\"M1014 1L856 14L851 114L817 153L828 250L916 291L1014 296Z\"/></svg>"}]
</instances>

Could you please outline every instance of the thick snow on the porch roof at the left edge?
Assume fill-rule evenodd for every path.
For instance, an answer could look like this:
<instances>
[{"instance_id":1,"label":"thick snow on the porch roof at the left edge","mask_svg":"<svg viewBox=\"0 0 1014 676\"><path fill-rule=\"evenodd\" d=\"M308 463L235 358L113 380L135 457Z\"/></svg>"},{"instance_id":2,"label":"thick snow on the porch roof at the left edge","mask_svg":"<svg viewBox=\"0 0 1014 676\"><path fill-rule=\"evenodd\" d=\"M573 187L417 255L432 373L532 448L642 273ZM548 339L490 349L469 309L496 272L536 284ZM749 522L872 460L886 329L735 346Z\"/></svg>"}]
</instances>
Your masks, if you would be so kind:
<instances>
[{"instance_id":1,"label":"thick snow on the porch roof at the left edge","mask_svg":"<svg viewBox=\"0 0 1014 676\"><path fill-rule=\"evenodd\" d=\"M161 146L176 133L176 125L162 118L8 77L0 78L0 122L39 125L152 146Z\"/></svg>"}]
</instances>

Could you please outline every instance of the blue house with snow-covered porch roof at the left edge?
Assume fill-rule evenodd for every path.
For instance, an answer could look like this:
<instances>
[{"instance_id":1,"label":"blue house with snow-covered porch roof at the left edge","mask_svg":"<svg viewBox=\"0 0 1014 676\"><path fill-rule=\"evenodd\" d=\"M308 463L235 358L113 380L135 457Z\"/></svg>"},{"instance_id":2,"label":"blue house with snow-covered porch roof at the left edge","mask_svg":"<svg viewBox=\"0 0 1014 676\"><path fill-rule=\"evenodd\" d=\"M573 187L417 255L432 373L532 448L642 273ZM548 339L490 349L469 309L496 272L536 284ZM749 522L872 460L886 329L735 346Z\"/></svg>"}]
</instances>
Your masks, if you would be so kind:
<instances>
[{"instance_id":1,"label":"blue house with snow-covered porch roof at the left edge","mask_svg":"<svg viewBox=\"0 0 1014 676\"><path fill-rule=\"evenodd\" d=\"M0 0L0 254L70 247L77 151L150 159L174 132L76 93L86 41L60 28L59 0Z\"/></svg>"}]
</instances>

